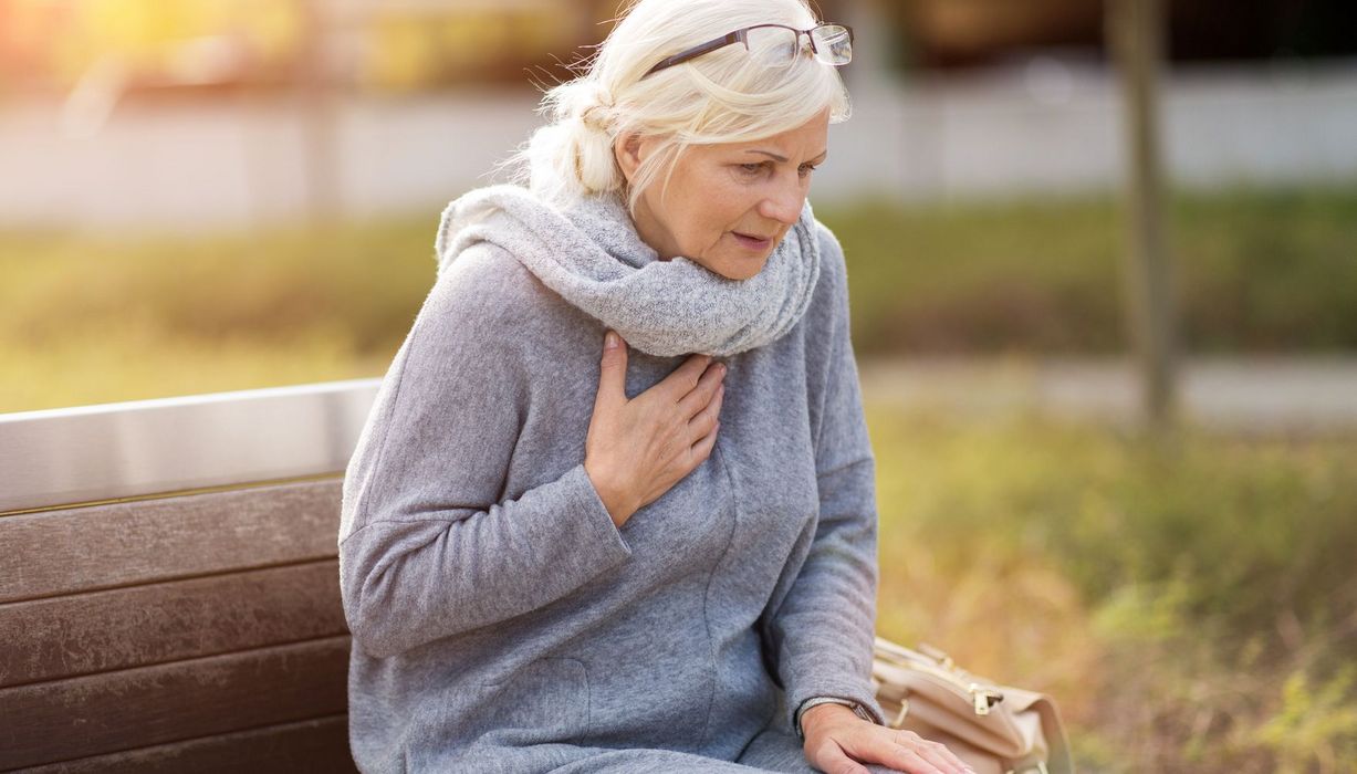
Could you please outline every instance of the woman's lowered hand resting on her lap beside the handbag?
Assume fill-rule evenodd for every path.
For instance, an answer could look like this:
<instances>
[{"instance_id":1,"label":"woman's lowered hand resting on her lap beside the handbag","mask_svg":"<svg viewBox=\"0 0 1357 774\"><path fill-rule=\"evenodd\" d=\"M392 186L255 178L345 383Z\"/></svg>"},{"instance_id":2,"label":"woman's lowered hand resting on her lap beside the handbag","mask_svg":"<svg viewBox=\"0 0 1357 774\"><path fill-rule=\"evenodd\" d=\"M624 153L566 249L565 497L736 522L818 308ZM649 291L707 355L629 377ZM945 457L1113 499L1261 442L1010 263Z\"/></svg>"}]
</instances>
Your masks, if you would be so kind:
<instances>
[{"instance_id":1,"label":"woman's lowered hand resting on her lap beside the handbag","mask_svg":"<svg viewBox=\"0 0 1357 774\"><path fill-rule=\"evenodd\" d=\"M806 758L826 774L867 774L878 763L909 774L972 771L947 747L912 731L862 720L843 705L817 705L801 716Z\"/></svg>"}]
</instances>

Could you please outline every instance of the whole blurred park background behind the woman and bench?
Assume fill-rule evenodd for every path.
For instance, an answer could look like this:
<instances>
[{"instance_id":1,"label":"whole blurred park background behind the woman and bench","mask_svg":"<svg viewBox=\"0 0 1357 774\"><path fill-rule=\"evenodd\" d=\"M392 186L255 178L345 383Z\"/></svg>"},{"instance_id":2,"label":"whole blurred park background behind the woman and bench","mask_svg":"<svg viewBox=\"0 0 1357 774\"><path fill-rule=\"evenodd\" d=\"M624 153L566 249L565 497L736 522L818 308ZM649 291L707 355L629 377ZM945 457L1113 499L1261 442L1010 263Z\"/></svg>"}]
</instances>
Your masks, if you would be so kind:
<instances>
[{"instance_id":1,"label":"whole blurred park background behind the woman and bench","mask_svg":"<svg viewBox=\"0 0 1357 774\"><path fill-rule=\"evenodd\" d=\"M1352 4L818 5L881 633L1088 771L1357 770ZM381 376L616 12L0 0L0 411Z\"/></svg>"}]
</instances>

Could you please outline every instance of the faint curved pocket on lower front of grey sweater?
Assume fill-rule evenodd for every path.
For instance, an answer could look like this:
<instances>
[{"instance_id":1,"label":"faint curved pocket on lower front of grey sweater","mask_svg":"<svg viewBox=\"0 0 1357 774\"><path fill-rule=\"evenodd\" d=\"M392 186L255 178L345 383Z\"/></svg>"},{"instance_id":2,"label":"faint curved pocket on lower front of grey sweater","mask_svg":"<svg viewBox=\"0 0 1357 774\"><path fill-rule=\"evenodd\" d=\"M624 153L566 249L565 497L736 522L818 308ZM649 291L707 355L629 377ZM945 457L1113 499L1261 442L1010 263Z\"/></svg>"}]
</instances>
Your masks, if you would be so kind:
<instances>
[{"instance_id":1,"label":"faint curved pocket on lower front of grey sweater","mask_svg":"<svg viewBox=\"0 0 1357 774\"><path fill-rule=\"evenodd\" d=\"M577 659L543 657L482 686L475 712L484 721L482 741L517 747L570 741L589 731L589 675Z\"/></svg>"}]
</instances>

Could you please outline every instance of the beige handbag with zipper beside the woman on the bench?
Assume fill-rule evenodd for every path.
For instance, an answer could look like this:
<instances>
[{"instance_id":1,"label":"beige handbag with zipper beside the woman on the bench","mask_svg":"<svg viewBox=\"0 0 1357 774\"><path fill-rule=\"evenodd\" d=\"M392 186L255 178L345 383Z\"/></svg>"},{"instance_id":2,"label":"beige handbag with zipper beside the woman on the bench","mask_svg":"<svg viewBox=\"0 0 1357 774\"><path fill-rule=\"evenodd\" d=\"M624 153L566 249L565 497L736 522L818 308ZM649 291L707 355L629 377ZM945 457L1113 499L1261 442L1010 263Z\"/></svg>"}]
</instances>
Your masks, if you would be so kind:
<instances>
[{"instance_id":1,"label":"beige handbag with zipper beside the woman on the bench","mask_svg":"<svg viewBox=\"0 0 1357 774\"><path fill-rule=\"evenodd\" d=\"M1073 774L1049 697L977 678L927 645L877 637L871 683L890 728L947 745L978 774Z\"/></svg>"}]
</instances>

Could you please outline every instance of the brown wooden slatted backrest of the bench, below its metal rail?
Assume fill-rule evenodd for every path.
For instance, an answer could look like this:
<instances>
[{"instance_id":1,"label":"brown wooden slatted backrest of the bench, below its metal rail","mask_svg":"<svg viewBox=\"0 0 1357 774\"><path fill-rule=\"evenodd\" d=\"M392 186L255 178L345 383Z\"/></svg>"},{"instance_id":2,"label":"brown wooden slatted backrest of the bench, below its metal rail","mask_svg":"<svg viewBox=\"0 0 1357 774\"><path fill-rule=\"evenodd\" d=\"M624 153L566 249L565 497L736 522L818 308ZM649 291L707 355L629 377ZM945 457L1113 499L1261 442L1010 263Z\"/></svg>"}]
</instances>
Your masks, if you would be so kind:
<instances>
[{"instance_id":1,"label":"brown wooden slatted backrest of the bench, below its metal rail","mask_svg":"<svg viewBox=\"0 0 1357 774\"><path fill-rule=\"evenodd\" d=\"M42 428L19 424L0 416L0 770L353 771L341 474L35 506L14 470Z\"/></svg>"}]
</instances>

